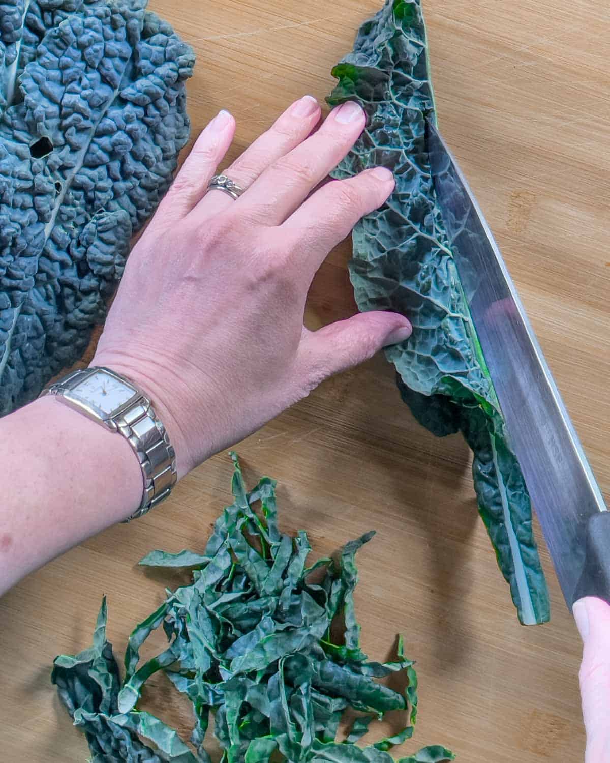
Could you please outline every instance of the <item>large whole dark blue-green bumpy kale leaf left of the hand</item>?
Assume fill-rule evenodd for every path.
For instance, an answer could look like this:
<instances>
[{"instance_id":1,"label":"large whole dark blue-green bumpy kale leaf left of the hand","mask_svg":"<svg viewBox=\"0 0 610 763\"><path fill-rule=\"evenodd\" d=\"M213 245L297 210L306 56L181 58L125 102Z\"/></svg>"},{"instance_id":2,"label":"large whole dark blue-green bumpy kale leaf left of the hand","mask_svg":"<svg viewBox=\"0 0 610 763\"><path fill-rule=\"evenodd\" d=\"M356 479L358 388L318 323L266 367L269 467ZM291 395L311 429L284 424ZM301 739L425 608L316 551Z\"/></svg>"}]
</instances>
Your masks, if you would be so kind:
<instances>
[{"instance_id":1,"label":"large whole dark blue-green bumpy kale leaf left of the hand","mask_svg":"<svg viewBox=\"0 0 610 763\"><path fill-rule=\"evenodd\" d=\"M146 0L0 6L0 414L103 320L188 140L193 66Z\"/></svg>"}]
</instances>

